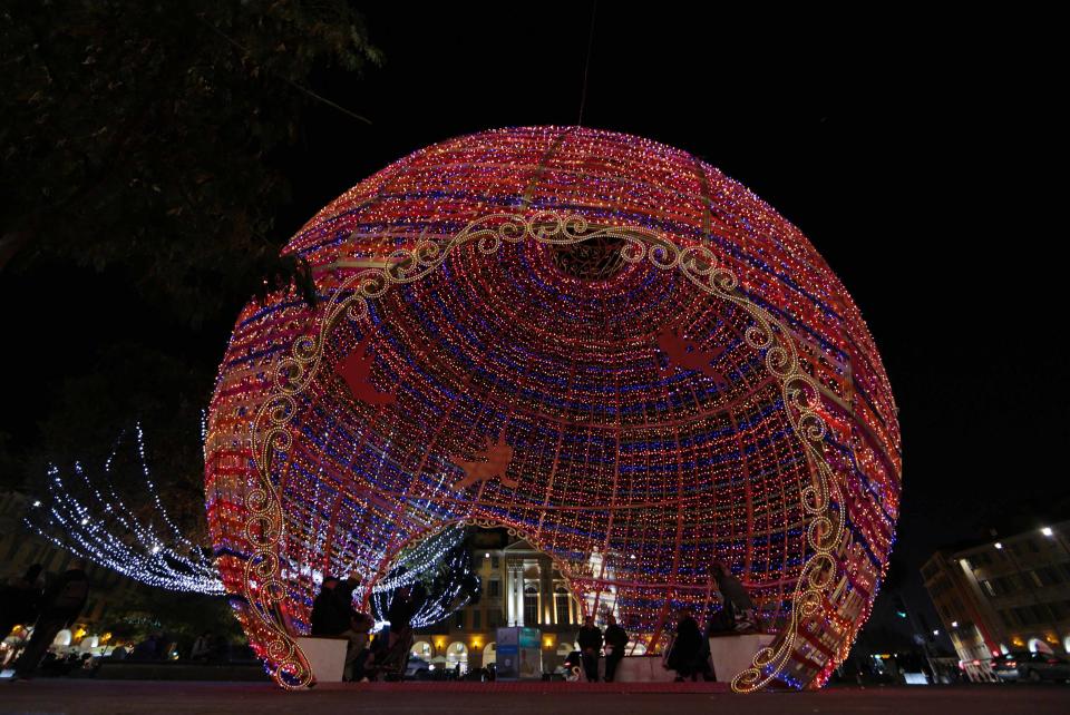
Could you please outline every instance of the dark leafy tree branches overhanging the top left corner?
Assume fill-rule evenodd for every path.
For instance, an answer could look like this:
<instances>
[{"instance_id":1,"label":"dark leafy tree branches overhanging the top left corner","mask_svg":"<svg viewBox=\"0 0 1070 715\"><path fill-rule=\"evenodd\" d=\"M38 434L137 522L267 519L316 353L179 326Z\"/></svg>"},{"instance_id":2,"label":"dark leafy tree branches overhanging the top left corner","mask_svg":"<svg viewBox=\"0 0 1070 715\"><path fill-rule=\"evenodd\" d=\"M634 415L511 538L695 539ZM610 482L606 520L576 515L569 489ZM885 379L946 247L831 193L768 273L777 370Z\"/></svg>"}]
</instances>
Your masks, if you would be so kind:
<instances>
[{"instance_id":1,"label":"dark leafy tree branches overhanging the top left corner","mask_svg":"<svg viewBox=\"0 0 1070 715\"><path fill-rule=\"evenodd\" d=\"M272 153L318 68L380 61L347 2L27 0L2 23L0 265L119 265L193 323L294 272Z\"/></svg>"}]
</instances>

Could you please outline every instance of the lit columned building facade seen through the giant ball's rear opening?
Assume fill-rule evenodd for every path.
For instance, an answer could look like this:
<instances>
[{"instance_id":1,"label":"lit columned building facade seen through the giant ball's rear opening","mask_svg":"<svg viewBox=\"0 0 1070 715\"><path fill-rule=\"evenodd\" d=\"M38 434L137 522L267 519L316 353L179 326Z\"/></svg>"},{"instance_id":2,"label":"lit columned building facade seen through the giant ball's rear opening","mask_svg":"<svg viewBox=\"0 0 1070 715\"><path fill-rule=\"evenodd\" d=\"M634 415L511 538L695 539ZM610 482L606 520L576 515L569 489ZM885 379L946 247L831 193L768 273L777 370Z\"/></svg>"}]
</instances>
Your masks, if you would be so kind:
<instances>
[{"instance_id":1,"label":"lit columned building facade seen through the giant ball's rear opening","mask_svg":"<svg viewBox=\"0 0 1070 715\"><path fill-rule=\"evenodd\" d=\"M543 670L553 670L574 649L583 606L543 551L500 529L476 530L466 541L479 577L478 600L416 635L412 653L461 672L495 662L499 626L537 628Z\"/></svg>"}]
</instances>

